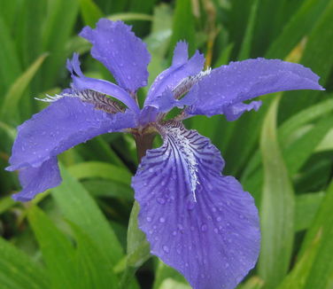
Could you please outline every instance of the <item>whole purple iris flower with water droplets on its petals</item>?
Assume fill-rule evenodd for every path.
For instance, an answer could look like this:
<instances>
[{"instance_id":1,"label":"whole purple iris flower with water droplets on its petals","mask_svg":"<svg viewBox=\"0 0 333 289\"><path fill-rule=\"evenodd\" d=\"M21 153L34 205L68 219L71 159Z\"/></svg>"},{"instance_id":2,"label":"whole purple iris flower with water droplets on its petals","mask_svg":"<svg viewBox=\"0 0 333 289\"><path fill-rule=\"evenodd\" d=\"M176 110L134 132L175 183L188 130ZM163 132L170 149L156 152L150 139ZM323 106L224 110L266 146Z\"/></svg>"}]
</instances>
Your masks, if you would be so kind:
<instances>
[{"instance_id":1,"label":"whole purple iris flower with water droplets on its petals","mask_svg":"<svg viewBox=\"0 0 333 289\"><path fill-rule=\"evenodd\" d=\"M193 288L234 288L259 255L258 210L235 177L221 175L219 150L196 130L185 129L182 120L224 114L234 121L259 109L261 102L247 102L251 98L322 90L319 77L278 59L248 59L203 71L204 56L196 51L189 59L187 43L180 42L172 65L152 83L140 108L136 91L147 85L146 45L121 21L99 20L80 35L118 85L84 76L77 54L68 60L71 89L44 99L50 105L19 126L7 169L19 170L23 190L13 198L27 201L60 184L59 153L101 134L132 133L143 157L132 186L151 254L180 271ZM164 121L174 107L182 113ZM156 134L164 144L151 149Z\"/></svg>"}]
</instances>

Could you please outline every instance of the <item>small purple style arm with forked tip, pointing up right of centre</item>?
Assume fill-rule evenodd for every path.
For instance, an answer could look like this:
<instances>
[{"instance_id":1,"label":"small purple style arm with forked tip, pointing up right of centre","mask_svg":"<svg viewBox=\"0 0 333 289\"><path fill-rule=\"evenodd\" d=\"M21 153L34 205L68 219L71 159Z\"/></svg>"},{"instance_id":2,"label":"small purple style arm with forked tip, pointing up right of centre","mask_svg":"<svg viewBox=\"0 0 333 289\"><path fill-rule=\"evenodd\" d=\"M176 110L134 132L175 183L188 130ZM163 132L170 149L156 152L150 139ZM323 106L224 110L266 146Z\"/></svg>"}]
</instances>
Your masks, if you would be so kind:
<instances>
[{"instance_id":1,"label":"small purple style arm with forked tip, pointing up right of centre","mask_svg":"<svg viewBox=\"0 0 333 289\"><path fill-rule=\"evenodd\" d=\"M204 67L205 58L198 51L189 59L188 44L177 43L174 48L172 65L163 71L152 83L144 105L159 106L159 98L165 90L174 90L183 79L199 74Z\"/></svg>"}]
</instances>

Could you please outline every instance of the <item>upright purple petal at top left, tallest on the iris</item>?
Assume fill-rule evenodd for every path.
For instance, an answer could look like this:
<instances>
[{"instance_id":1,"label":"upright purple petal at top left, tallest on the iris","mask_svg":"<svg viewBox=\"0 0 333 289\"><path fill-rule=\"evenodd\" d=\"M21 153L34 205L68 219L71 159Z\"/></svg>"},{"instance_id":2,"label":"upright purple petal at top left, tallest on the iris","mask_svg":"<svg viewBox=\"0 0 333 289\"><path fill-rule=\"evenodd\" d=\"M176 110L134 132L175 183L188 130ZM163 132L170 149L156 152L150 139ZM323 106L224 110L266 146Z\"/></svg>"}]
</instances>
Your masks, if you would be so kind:
<instances>
[{"instance_id":1,"label":"upright purple petal at top left, tallest on the iris","mask_svg":"<svg viewBox=\"0 0 333 289\"><path fill-rule=\"evenodd\" d=\"M110 70L123 89L135 92L147 85L151 56L130 26L101 19L95 29L84 27L80 35L92 43L92 57Z\"/></svg>"}]
</instances>

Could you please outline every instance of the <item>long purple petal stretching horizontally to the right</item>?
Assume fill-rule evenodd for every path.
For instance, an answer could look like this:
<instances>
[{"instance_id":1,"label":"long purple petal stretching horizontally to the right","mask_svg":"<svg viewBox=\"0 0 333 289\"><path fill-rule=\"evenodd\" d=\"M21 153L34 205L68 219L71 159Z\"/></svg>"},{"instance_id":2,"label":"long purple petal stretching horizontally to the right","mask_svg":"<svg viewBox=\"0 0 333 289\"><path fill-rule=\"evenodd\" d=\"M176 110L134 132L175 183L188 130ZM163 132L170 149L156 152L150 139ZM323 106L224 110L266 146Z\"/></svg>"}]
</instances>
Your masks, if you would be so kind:
<instances>
[{"instance_id":1,"label":"long purple petal stretching horizontally to the right","mask_svg":"<svg viewBox=\"0 0 333 289\"><path fill-rule=\"evenodd\" d=\"M213 69L197 82L184 99L189 114L228 114L244 100L283 90L323 90L319 77L309 68L279 59L248 59ZM258 105L252 105L258 108ZM242 113L229 116L235 120ZM237 116L237 117L236 117Z\"/></svg>"}]
</instances>

